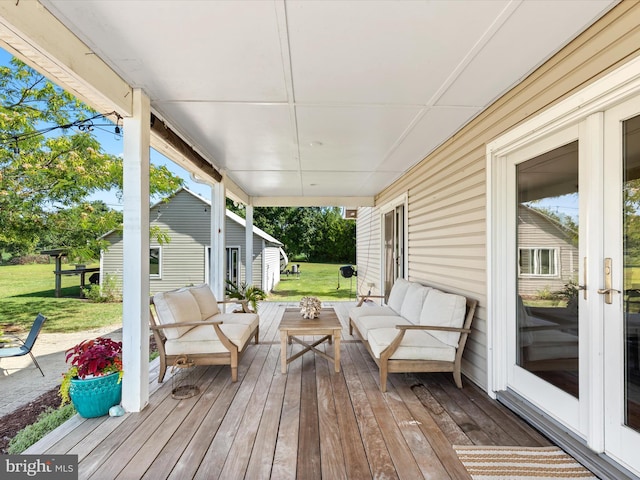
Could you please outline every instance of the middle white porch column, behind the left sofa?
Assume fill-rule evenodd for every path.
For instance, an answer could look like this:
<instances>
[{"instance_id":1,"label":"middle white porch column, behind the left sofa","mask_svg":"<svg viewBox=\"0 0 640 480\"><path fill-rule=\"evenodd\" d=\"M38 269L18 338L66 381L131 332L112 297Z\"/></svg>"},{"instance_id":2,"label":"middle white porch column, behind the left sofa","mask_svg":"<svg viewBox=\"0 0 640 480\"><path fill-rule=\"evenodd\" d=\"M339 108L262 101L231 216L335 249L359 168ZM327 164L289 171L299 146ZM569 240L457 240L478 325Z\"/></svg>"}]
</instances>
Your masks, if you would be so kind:
<instances>
[{"instance_id":1,"label":"middle white porch column, behind the left sofa","mask_svg":"<svg viewBox=\"0 0 640 480\"><path fill-rule=\"evenodd\" d=\"M224 182L211 187L211 259L209 263L209 282L217 299L225 297L225 219L226 192Z\"/></svg>"}]
</instances>

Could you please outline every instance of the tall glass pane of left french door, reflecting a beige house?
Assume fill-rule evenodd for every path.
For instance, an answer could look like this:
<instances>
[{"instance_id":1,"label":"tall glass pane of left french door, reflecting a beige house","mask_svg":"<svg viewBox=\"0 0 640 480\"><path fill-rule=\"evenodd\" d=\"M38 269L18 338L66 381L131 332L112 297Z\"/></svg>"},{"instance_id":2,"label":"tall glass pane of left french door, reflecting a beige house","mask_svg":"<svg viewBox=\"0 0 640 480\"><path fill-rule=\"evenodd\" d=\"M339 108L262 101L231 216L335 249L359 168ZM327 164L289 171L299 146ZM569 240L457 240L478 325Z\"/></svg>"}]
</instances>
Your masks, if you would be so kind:
<instances>
[{"instance_id":1,"label":"tall glass pane of left french door, reflecting a beige house","mask_svg":"<svg viewBox=\"0 0 640 480\"><path fill-rule=\"evenodd\" d=\"M578 142L516 175L517 362L578 397Z\"/></svg>"}]
</instances>

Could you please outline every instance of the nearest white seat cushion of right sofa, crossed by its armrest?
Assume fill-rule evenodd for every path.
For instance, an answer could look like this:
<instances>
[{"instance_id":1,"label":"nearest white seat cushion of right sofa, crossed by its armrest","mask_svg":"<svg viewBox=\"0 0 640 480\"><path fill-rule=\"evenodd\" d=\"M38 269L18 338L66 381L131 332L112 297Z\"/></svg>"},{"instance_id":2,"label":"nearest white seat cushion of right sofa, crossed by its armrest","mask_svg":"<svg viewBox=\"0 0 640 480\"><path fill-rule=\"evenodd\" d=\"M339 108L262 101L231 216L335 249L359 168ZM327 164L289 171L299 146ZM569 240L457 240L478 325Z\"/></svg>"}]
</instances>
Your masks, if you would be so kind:
<instances>
[{"instance_id":1,"label":"nearest white seat cushion of right sofa, crossed by its armrest","mask_svg":"<svg viewBox=\"0 0 640 480\"><path fill-rule=\"evenodd\" d=\"M387 348L399 330L397 328L376 328L369 330L369 346L376 358ZM420 330L405 332L398 349L391 356L395 360L437 360L453 362L456 349L442 343L437 338Z\"/></svg>"}]
</instances>

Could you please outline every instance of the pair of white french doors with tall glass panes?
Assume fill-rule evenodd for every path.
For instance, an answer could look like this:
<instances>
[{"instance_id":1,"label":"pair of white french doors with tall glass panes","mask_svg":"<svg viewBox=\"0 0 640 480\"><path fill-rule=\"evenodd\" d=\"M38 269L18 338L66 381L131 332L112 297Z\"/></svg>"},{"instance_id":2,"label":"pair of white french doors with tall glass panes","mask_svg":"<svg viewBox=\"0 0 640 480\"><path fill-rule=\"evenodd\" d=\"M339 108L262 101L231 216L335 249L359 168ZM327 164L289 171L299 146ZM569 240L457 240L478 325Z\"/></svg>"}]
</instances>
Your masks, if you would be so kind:
<instances>
[{"instance_id":1,"label":"pair of white french doors with tall glass panes","mask_svg":"<svg viewBox=\"0 0 640 480\"><path fill-rule=\"evenodd\" d=\"M504 159L507 388L640 472L640 96Z\"/></svg>"}]
</instances>

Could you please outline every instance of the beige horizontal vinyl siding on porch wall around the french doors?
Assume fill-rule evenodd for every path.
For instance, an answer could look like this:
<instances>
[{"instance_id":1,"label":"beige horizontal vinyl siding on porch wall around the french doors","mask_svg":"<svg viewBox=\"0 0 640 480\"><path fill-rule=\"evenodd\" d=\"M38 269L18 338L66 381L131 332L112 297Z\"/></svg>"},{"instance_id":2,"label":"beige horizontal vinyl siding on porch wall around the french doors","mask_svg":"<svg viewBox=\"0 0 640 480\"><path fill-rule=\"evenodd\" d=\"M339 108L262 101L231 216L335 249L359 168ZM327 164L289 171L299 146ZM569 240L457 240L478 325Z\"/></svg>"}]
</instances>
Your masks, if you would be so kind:
<instances>
[{"instance_id":1,"label":"beige horizontal vinyl siding on porch wall around the french doors","mask_svg":"<svg viewBox=\"0 0 640 480\"><path fill-rule=\"evenodd\" d=\"M639 48L640 4L622 2L376 197L376 205L382 206L408 195L407 278L479 301L463 372L483 387L487 385L486 144L636 57ZM368 211L378 212L379 217L376 209L358 210L358 270L379 272L379 218L375 225L360 218ZM379 282L369 280L374 275L359 278L360 285Z\"/></svg>"}]
</instances>

